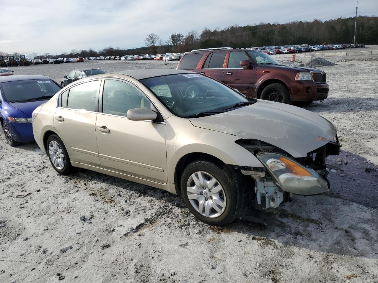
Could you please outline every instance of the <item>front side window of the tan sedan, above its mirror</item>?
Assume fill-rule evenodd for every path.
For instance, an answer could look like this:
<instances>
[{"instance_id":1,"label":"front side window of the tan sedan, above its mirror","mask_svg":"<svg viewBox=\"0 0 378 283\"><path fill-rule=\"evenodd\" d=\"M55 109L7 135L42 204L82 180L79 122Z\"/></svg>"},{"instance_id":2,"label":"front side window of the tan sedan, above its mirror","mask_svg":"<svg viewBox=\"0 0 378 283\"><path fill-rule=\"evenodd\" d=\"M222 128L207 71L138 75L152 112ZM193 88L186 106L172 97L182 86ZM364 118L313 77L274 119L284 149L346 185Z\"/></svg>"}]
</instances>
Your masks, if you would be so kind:
<instances>
[{"instance_id":1,"label":"front side window of the tan sedan, above its mirror","mask_svg":"<svg viewBox=\"0 0 378 283\"><path fill-rule=\"evenodd\" d=\"M102 94L102 112L119 116L127 110L139 107L151 108L150 100L138 89L126 82L105 80Z\"/></svg>"}]
</instances>

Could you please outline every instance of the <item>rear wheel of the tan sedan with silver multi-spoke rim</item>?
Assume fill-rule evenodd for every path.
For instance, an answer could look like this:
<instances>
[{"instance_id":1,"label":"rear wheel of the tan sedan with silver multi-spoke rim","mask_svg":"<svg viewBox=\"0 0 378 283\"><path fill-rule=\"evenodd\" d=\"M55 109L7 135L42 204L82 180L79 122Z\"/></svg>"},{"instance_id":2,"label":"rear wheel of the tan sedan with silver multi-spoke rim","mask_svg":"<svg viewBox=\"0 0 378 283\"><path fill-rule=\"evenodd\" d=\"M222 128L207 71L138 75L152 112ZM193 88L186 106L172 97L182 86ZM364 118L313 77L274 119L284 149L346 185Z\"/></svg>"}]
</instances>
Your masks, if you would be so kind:
<instances>
[{"instance_id":1,"label":"rear wheel of the tan sedan with silver multi-spoke rim","mask_svg":"<svg viewBox=\"0 0 378 283\"><path fill-rule=\"evenodd\" d=\"M71 160L60 137L50 135L46 146L50 163L55 171L62 175L70 174L72 171Z\"/></svg>"}]
</instances>

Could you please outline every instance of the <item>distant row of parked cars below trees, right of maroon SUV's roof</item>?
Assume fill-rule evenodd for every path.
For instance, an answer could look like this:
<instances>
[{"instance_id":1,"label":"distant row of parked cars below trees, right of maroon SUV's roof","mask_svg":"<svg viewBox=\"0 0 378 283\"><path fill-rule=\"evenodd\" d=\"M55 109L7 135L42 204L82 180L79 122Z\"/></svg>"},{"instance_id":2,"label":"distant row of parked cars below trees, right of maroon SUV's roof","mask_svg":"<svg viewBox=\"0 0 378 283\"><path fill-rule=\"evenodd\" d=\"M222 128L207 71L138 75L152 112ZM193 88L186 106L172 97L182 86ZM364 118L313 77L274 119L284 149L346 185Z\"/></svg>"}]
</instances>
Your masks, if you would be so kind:
<instances>
[{"instance_id":1,"label":"distant row of parked cars below trees, right of maroon SUV's roof","mask_svg":"<svg viewBox=\"0 0 378 283\"><path fill-rule=\"evenodd\" d=\"M263 47L248 47L245 49L250 50L258 50L265 52L266 54L274 55L274 54L288 54L288 53L299 53L299 52L313 52L313 51L321 51L321 50L335 50L335 49L345 49L345 48L364 48L365 45L363 44L328 44L328 45L308 45L308 44L300 44L300 45L277 45L277 46L263 46Z\"/></svg>"}]
</instances>

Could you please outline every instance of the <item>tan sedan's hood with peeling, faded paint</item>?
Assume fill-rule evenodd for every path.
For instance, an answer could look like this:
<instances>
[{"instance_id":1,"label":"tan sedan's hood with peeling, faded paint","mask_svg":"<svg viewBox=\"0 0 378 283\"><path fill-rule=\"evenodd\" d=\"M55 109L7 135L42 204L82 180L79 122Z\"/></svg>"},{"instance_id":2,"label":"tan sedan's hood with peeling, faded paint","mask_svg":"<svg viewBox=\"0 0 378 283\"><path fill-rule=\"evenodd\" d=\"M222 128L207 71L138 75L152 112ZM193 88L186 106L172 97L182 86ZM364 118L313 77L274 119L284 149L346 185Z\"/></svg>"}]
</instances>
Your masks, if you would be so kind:
<instances>
[{"instance_id":1,"label":"tan sedan's hood with peeling, faded paint","mask_svg":"<svg viewBox=\"0 0 378 283\"><path fill-rule=\"evenodd\" d=\"M308 152L332 140L337 132L331 122L318 114L266 100L258 100L253 105L229 112L189 120L199 128L270 143L293 157L307 156Z\"/></svg>"}]
</instances>

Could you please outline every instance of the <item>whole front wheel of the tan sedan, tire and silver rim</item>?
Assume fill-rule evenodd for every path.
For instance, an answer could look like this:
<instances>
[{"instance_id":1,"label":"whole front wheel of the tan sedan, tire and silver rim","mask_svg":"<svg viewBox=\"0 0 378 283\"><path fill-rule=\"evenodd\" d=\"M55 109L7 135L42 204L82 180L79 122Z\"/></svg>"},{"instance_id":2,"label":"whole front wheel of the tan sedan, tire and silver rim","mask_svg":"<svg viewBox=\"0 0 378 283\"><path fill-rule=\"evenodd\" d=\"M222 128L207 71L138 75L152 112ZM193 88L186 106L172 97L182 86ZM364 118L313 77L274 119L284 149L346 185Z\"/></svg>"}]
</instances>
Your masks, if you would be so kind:
<instances>
[{"instance_id":1,"label":"whole front wheel of the tan sedan, tire and silver rim","mask_svg":"<svg viewBox=\"0 0 378 283\"><path fill-rule=\"evenodd\" d=\"M209 160L190 163L181 177L186 206L197 219L209 225L223 226L235 219L236 186L226 165Z\"/></svg>"}]
</instances>

